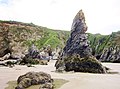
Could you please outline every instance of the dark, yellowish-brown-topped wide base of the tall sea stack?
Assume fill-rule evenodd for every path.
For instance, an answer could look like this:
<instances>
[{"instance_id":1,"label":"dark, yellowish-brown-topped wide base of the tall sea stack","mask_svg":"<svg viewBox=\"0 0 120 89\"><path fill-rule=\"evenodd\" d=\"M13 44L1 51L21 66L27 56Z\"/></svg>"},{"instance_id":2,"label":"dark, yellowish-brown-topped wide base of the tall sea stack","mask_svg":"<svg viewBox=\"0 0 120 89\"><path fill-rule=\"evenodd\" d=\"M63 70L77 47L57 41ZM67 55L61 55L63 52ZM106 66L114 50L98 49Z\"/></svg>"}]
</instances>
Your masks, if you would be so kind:
<instances>
[{"instance_id":1,"label":"dark, yellowish-brown-topped wide base of the tall sea stack","mask_svg":"<svg viewBox=\"0 0 120 89\"><path fill-rule=\"evenodd\" d=\"M55 66L58 72L62 72L64 69L74 72L106 73L106 69L95 57L69 56L64 60L58 60Z\"/></svg>"}]
</instances>

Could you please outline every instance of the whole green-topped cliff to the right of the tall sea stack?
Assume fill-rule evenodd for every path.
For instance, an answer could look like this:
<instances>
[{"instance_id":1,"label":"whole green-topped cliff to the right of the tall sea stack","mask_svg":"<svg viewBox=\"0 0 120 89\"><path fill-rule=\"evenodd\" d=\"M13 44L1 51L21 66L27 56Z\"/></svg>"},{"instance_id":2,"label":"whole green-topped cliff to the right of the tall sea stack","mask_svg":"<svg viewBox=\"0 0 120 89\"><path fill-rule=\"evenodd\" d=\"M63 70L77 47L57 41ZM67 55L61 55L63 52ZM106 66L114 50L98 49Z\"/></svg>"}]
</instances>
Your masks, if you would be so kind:
<instances>
[{"instance_id":1,"label":"whole green-topped cliff to the right of the tall sea stack","mask_svg":"<svg viewBox=\"0 0 120 89\"><path fill-rule=\"evenodd\" d=\"M111 35L89 34L93 55L98 60L120 62L120 31Z\"/></svg>"}]
</instances>

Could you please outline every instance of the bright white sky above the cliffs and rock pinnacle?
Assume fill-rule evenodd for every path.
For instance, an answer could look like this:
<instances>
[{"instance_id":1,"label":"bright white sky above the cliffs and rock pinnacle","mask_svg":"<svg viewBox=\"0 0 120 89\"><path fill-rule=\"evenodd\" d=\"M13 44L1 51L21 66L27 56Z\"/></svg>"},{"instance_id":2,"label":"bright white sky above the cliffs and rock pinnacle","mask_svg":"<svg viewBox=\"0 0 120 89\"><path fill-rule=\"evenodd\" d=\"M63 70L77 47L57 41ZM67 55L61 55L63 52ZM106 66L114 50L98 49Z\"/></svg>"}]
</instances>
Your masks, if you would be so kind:
<instances>
[{"instance_id":1,"label":"bright white sky above the cliffs and rock pinnacle","mask_svg":"<svg viewBox=\"0 0 120 89\"><path fill-rule=\"evenodd\" d=\"M120 30L120 0L0 0L0 19L71 30L80 9L86 17L87 32L110 34Z\"/></svg>"}]
</instances>

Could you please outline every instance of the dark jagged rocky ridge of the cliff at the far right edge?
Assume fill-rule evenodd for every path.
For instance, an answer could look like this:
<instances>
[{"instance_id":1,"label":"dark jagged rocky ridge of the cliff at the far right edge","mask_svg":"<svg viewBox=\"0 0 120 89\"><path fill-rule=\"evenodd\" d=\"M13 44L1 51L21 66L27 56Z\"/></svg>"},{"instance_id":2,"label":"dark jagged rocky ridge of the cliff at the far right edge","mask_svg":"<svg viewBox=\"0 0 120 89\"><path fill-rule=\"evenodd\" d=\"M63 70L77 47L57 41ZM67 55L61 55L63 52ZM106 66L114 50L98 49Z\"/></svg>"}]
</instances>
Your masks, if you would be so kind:
<instances>
[{"instance_id":1,"label":"dark jagged rocky ridge of the cliff at the far right edge","mask_svg":"<svg viewBox=\"0 0 120 89\"><path fill-rule=\"evenodd\" d=\"M120 31L110 35L107 46L103 49L99 60L120 63Z\"/></svg>"}]
</instances>

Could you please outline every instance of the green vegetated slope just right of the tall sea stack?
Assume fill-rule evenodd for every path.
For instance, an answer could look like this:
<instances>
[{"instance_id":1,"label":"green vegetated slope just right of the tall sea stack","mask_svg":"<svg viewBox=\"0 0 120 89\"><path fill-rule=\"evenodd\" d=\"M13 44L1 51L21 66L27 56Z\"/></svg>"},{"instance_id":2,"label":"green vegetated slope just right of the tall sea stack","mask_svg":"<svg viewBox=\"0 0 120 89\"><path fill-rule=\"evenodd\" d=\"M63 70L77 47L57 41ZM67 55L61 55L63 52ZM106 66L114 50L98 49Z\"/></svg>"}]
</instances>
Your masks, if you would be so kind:
<instances>
[{"instance_id":1,"label":"green vegetated slope just right of the tall sea stack","mask_svg":"<svg viewBox=\"0 0 120 89\"><path fill-rule=\"evenodd\" d=\"M109 46L110 35L88 33L88 39L90 41L93 54L99 54L104 50L104 48Z\"/></svg>"}]
</instances>

